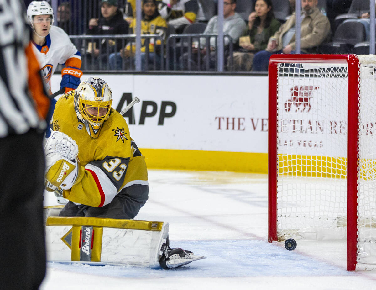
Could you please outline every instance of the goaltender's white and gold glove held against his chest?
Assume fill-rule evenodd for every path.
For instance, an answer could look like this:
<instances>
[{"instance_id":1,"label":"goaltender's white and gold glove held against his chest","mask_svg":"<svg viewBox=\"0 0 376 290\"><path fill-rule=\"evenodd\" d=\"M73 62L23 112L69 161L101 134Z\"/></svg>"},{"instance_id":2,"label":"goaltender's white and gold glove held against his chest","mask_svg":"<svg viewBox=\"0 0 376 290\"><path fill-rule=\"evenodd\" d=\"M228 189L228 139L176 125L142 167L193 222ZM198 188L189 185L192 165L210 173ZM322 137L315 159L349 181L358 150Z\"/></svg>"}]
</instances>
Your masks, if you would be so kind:
<instances>
[{"instance_id":1,"label":"goaltender's white and gold glove held against his chest","mask_svg":"<svg viewBox=\"0 0 376 290\"><path fill-rule=\"evenodd\" d=\"M85 170L77 158L76 142L62 132L53 131L44 147L46 189L70 189L79 182Z\"/></svg>"}]
</instances>

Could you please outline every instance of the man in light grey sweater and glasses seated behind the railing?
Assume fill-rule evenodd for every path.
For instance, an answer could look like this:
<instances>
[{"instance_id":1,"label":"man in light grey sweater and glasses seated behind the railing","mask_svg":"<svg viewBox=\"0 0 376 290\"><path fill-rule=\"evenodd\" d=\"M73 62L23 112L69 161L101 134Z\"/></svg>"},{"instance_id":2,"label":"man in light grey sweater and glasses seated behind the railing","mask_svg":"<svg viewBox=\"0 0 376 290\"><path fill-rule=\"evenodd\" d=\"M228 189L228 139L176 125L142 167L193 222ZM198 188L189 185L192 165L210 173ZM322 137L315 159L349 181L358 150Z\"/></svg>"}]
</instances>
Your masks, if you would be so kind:
<instances>
[{"instance_id":1,"label":"man in light grey sweater and glasses seated behind the railing","mask_svg":"<svg viewBox=\"0 0 376 290\"><path fill-rule=\"evenodd\" d=\"M233 43L238 43L241 35L246 32L247 26L244 20L239 14L235 12L236 0L223 0L223 34L229 35L232 38ZM203 35L218 34L218 16L215 15L210 18L208 25L206 26ZM224 38L224 46L227 47L229 44L229 38ZM187 61L191 62L191 69L198 70L199 67L205 70L206 57L209 55L209 69L215 68L216 59L216 37L210 38L210 52L206 52L206 39L200 38L200 47L197 44L193 44L192 54L183 54L180 57L180 63L183 65L184 69L188 68ZM198 55L201 54L201 63L198 62ZM224 59L229 56L228 51L225 51Z\"/></svg>"}]
</instances>

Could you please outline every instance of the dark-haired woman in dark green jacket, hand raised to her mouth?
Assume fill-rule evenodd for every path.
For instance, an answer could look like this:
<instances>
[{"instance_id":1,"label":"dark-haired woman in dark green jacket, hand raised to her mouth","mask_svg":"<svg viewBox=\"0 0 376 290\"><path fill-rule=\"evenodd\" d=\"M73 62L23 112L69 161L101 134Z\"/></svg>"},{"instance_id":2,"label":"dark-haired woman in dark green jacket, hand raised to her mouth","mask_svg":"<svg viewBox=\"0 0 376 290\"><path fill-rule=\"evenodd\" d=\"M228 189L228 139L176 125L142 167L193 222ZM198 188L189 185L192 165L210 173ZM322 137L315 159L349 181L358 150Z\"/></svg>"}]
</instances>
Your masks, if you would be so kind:
<instances>
[{"instance_id":1,"label":"dark-haired woman in dark green jacket, hand raised to her mouth","mask_svg":"<svg viewBox=\"0 0 376 290\"><path fill-rule=\"evenodd\" d=\"M254 10L248 17L248 35L240 37L240 50L233 53L233 69L228 67L228 70L250 71L255 53L266 49L269 38L279 29L271 0L257 0Z\"/></svg>"}]
</instances>

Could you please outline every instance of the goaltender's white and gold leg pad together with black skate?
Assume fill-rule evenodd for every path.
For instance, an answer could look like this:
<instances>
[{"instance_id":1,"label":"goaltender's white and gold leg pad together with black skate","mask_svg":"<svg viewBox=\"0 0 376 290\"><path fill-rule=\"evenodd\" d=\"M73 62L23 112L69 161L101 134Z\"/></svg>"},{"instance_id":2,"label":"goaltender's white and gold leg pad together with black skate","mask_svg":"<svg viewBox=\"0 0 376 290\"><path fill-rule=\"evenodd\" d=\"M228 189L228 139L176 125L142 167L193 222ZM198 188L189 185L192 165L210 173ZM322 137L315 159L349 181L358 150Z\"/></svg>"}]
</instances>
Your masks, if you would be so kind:
<instances>
[{"instance_id":1,"label":"goaltender's white and gold leg pad together with black skate","mask_svg":"<svg viewBox=\"0 0 376 290\"><path fill-rule=\"evenodd\" d=\"M168 246L168 223L99 217L59 217L44 208L47 261L177 268L206 258Z\"/></svg>"}]
</instances>

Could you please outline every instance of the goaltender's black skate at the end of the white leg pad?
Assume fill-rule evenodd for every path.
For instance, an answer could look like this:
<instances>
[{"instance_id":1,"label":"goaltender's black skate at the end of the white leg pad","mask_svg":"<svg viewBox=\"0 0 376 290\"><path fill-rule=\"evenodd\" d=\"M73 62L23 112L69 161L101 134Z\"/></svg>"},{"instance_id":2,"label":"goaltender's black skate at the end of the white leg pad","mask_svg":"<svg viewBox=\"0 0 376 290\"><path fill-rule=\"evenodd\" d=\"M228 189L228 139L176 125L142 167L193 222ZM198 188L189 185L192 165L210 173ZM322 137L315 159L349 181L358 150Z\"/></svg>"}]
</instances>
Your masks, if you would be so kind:
<instances>
[{"instance_id":1,"label":"goaltender's black skate at the end of the white leg pad","mask_svg":"<svg viewBox=\"0 0 376 290\"><path fill-rule=\"evenodd\" d=\"M159 260L159 265L167 270L178 268L183 265L192 263L193 261L205 259L205 256L194 255L191 251L183 250L181 248L166 247L162 258Z\"/></svg>"}]
</instances>

